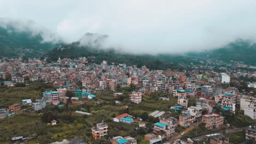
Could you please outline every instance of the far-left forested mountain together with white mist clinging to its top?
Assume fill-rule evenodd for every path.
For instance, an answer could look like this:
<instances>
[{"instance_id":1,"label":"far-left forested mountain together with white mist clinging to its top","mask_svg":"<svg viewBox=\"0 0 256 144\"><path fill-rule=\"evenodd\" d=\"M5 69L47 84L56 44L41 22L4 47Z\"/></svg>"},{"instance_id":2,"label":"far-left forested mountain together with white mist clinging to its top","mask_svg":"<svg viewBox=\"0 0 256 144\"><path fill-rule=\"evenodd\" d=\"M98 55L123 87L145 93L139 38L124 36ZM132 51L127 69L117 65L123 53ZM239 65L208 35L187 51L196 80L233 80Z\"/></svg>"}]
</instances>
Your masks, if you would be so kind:
<instances>
[{"instance_id":1,"label":"far-left forested mountain together with white mist clinging to its top","mask_svg":"<svg viewBox=\"0 0 256 144\"><path fill-rule=\"evenodd\" d=\"M0 18L0 57L39 57L62 43L55 34L31 26L32 21L15 22Z\"/></svg>"}]
</instances>

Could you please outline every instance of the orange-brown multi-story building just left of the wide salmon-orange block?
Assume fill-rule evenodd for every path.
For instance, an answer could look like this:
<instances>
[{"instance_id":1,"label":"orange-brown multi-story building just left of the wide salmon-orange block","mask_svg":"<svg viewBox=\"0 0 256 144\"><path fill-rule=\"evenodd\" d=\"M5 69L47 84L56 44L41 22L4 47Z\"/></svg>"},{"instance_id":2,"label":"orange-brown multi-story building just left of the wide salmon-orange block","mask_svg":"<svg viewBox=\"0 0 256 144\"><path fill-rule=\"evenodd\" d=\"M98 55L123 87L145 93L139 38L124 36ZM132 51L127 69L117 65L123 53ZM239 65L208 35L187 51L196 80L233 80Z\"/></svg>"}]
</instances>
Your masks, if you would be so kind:
<instances>
[{"instance_id":1,"label":"orange-brown multi-story building just left of the wide salmon-orange block","mask_svg":"<svg viewBox=\"0 0 256 144\"><path fill-rule=\"evenodd\" d=\"M195 116L190 115L189 111L181 112L179 115L179 125L182 127L188 127L195 121Z\"/></svg>"}]
</instances>

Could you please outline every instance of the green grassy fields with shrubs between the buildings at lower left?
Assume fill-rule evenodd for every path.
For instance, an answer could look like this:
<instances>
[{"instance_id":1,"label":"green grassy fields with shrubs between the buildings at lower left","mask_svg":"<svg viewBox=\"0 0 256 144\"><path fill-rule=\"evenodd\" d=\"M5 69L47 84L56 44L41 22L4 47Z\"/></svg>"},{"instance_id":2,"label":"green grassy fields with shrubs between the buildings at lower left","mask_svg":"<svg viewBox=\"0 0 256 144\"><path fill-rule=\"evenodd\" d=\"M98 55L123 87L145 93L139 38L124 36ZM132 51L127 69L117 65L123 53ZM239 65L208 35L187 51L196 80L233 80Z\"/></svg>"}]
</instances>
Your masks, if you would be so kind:
<instances>
[{"instance_id":1,"label":"green grassy fields with shrubs between the buildings at lower left","mask_svg":"<svg viewBox=\"0 0 256 144\"><path fill-rule=\"evenodd\" d=\"M48 86L50 87L50 86ZM46 88L42 88L40 84L17 87L17 88L0 88L1 106L8 106L9 104L18 103L21 99L40 98L42 92ZM139 129L138 123L124 124L113 122L112 118L121 113L129 113L135 117L139 117L143 112L170 111L170 106L177 103L177 99L171 98L168 101L158 100L159 97L168 96L164 93L158 92L151 95L143 95L143 101L140 104L130 104L129 91L124 90L124 95L121 98L114 99L112 92L96 93L96 99L84 100L83 105L69 105L59 109L54 106L48 106L43 111L38 113L24 112L13 117L5 118L0 123L0 143L9 143L11 137L24 136L34 137L34 140L29 143L49 143L54 141L62 141L63 139L71 139L74 136L82 136L86 141L92 141L91 128L96 123L104 120L109 127L108 137L112 136L132 136L141 141L144 134L150 132L150 129ZM8 95L7 100L3 95ZM115 100L121 101L121 104L115 104ZM80 110L92 113L91 116L84 116L74 111ZM42 115L46 112L51 112L56 116L58 121L56 126L49 126L42 121ZM178 113L172 113L173 116L178 116ZM153 122L146 122L152 125ZM108 138L106 137L106 138ZM108 141L93 141L93 143L108 143Z\"/></svg>"}]
</instances>

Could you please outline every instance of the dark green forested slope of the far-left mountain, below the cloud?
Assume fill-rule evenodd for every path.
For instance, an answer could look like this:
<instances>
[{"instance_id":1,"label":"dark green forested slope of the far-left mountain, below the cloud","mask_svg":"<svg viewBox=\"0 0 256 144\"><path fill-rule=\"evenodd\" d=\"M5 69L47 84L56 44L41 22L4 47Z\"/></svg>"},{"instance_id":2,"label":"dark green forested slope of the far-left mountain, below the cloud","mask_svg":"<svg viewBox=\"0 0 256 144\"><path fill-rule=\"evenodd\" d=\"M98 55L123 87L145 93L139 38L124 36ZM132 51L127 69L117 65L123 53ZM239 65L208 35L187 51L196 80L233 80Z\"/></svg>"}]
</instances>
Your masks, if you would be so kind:
<instances>
[{"instance_id":1,"label":"dark green forested slope of the far-left mountain, below the cloud","mask_svg":"<svg viewBox=\"0 0 256 144\"><path fill-rule=\"evenodd\" d=\"M30 29L20 31L13 24L0 25L0 57L38 57L60 45L43 40L42 34L35 34Z\"/></svg>"}]
</instances>

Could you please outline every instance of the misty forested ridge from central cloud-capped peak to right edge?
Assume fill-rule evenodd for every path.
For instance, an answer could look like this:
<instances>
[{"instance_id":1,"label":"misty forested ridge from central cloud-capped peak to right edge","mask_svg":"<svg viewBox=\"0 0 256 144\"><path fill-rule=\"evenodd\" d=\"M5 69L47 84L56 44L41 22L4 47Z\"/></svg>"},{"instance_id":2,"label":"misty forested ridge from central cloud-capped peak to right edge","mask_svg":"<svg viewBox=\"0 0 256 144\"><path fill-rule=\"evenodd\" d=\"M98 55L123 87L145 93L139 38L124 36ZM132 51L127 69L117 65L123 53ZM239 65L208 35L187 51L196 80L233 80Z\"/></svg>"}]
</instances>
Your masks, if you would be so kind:
<instances>
[{"instance_id":1,"label":"misty forested ridge from central cloud-capped peak to right edge","mask_svg":"<svg viewBox=\"0 0 256 144\"><path fill-rule=\"evenodd\" d=\"M249 40L238 39L219 49L207 50L202 52L188 52L181 54L131 54L119 52L116 49L102 49L101 45L108 38L107 35L86 33L81 39L71 44L64 44L56 47L46 54L49 61L56 61L61 58L78 58L95 56L92 60L101 63L103 60L114 63L126 63L129 65L146 65L150 69L177 68L174 65L190 63L200 64L203 59L213 59L222 61L241 61L246 64L256 65L256 44ZM83 43L82 43L83 42ZM195 60L195 58L197 60ZM248 59L249 58L249 59Z\"/></svg>"}]
</instances>

